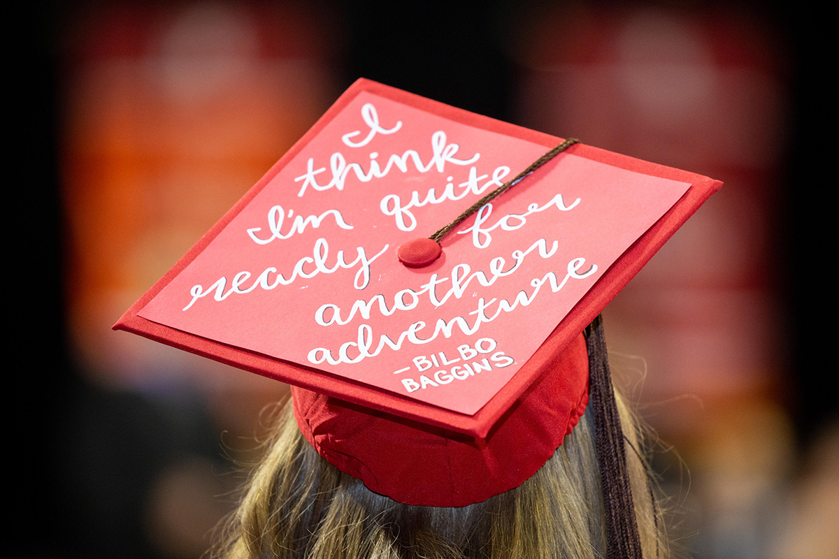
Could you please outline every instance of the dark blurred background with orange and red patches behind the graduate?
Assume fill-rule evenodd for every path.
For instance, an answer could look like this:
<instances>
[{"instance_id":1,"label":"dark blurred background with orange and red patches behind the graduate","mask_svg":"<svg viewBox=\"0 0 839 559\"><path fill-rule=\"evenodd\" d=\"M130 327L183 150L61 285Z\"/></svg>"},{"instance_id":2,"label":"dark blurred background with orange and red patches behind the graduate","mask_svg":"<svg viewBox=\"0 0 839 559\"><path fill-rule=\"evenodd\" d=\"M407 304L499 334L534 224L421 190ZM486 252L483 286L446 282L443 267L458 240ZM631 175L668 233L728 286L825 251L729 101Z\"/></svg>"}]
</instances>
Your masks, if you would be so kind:
<instances>
[{"instance_id":1,"label":"dark blurred background with orange and red patches behind the graduate","mask_svg":"<svg viewBox=\"0 0 839 559\"><path fill-rule=\"evenodd\" d=\"M7 391L23 474L7 479L28 529L11 556L211 545L287 388L110 327L366 77L726 183L607 308L618 382L659 439L686 554L839 557L836 365L819 354L836 59L812 18L743 2L30 7L9 51L25 241Z\"/></svg>"}]
</instances>

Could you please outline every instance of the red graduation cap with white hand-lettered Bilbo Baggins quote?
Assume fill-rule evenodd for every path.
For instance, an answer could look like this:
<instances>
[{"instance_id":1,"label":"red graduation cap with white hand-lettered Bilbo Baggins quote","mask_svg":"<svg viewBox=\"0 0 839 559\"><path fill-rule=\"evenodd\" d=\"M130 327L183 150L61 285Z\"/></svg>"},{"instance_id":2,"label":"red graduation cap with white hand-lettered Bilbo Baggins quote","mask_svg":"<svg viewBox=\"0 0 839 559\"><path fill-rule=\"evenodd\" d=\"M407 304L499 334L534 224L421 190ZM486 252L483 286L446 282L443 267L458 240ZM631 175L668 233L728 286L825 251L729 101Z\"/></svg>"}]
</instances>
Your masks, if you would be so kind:
<instances>
[{"instance_id":1,"label":"red graduation cap with white hand-lettered Bilbo Baggins quote","mask_svg":"<svg viewBox=\"0 0 839 559\"><path fill-rule=\"evenodd\" d=\"M358 80L114 328L288 382L337 468L467 505L554 453L584 329L721 185Z\"/></svg>"}]
</instances>

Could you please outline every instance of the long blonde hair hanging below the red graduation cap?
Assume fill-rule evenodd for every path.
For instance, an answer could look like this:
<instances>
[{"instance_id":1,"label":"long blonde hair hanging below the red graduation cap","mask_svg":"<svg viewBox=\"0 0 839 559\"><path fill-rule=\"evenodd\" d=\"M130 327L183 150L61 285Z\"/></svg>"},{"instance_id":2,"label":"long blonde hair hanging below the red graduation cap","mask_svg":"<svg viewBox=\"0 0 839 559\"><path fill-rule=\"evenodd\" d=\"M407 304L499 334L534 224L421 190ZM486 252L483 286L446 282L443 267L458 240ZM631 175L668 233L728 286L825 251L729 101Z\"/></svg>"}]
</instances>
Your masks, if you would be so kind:
<instances>
[{"instance_id":1,"label":"long blonde hair hanging below the red graduation cap","mask_svg":"<svg viewBox=\"0 0 839 559\"><path fill-rule=\"evenodd\" d=\"M638 422L616 394L644 557L669 557ZM223 559L596 559L606 556L589 412L533 477L462 508L402 505L333 467L290 401L227 525ZM420 467L421 468L421 467ZM421 469L418 474L421 475Z\"/></svg>"}]
</instances>

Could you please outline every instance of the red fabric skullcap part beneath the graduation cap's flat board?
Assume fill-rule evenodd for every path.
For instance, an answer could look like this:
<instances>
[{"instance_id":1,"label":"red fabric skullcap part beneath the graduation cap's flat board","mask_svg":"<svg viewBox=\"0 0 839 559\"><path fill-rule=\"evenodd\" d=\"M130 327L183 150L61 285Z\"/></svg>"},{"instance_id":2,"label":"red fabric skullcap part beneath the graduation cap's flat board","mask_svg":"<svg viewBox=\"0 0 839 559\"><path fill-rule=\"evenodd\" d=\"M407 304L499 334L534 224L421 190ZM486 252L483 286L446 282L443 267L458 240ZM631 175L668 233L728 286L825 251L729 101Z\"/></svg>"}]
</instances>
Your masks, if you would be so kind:
<instances>
[{"instance_id":1,"label":"red fabric skullcap part beneath the graduation cap's flat board","mask_svg":"<svg viewBox=\"0 0 839 559\"><path fill-rule=\"evenodd\" d=\"M518 487L553 455L588 402L578 335L486 439L474 439L292 386L294 417L315 450L405 505L458 507Z\"/></svg>"}]
</instances>

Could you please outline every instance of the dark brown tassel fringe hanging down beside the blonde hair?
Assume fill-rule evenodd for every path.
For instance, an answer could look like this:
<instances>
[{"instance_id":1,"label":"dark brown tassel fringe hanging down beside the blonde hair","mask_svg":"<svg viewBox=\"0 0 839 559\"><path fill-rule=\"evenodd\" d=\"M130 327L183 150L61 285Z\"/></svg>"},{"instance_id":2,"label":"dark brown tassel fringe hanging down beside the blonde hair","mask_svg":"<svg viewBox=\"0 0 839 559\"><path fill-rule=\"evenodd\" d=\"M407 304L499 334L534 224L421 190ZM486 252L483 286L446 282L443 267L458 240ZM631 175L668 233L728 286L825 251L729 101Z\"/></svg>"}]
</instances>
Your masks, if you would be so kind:
<instances>
[{"instance_id":1,"label":"dark brown tassel fringe hanging down beside the blonde hair","mask_svg":"<svg viewBox=\"0 0 839 559\"><path fill-rule=\"evenodd\" d=\"M607 559L641 559L638 523L629 486L626 450L623 447L623 430L612 391L601 315L597 315L589 325L586 334L595 446L606 514L606 556Z\"/></svg>"}]
</instances>

